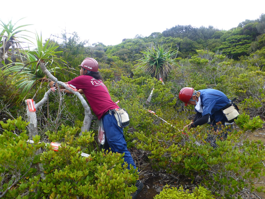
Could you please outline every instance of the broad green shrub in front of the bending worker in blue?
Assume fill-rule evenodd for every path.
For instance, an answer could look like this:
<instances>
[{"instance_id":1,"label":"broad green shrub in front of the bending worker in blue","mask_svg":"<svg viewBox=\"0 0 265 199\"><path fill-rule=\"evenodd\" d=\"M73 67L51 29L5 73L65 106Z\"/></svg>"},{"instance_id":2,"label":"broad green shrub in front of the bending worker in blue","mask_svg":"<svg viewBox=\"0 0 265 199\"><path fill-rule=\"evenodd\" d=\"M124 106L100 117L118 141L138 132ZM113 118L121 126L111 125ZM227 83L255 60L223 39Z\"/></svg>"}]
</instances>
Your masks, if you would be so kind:
<instances>
[{"instance_id":1,"label":"broad green shrub in front of the bending worker in blue","mask_svg":"<svg viewBox=\"0 0 265 199\"><path fill-rule=\"evenodd\" d=\"M149 151L153 168L184 174L193 180L200 175L201 183L216 195L233 198L244 188L255 189L254 181L264 176L265 159L264 144L260 140L250 141L244 135L246 131L261 128L263 121L240 115L236 122L243 130L233 130L226 140L222 138L225 129L217 133L203 125L184 131L187 136L180 127L188 121L184 124L170 121L173 127L164 123L153 127L156 130L150 134L136 132L138 141L133 142L138 149ZM215 149L206 142L208 134L220 137Z\"/></svg>"}]
</instances>

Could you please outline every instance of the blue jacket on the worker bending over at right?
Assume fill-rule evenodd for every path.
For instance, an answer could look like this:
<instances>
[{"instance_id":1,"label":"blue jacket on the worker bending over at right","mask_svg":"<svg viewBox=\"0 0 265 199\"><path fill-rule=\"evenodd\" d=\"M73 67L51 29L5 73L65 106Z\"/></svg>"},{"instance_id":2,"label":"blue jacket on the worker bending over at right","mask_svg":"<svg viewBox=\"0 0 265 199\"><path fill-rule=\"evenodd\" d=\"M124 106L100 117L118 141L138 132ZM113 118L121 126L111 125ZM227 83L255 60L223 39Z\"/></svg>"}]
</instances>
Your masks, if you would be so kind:
<instances>
[{"instance_id":1,"label":"blue jacket on the worker bending over at right","mask_svg":"<svg viewBox=\"0 0 265 199\"><path fill-rule=\"evenodd\" d=\"M210 114L211 119L216 122L225 121L226 119L220 109L231 100L223 92L215 89L203 89L199 91L201 92L201 106L203 108L202 116Z\"/></svg>"}]
</instances>

